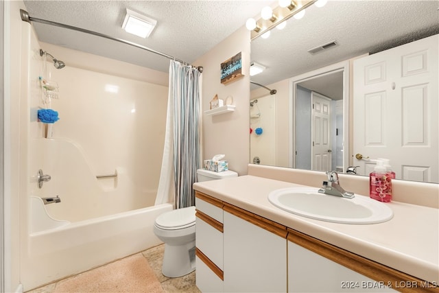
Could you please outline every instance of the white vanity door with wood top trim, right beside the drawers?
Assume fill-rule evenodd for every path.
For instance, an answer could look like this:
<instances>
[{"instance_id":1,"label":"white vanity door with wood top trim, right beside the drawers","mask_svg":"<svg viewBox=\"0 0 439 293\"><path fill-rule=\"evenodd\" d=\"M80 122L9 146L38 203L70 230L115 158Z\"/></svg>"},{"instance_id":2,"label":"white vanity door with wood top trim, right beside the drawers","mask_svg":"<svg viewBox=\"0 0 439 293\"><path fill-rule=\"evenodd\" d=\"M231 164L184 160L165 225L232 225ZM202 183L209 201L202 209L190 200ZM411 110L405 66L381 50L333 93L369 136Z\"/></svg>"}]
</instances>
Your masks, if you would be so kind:
<instances>
[{"instance_id":1,"label":"white vanity door with wood top trim, right beside the drawers","mask_svg":"<svg viewBox=\"0 0 439 293\"><path fill-rule=\"evenodd\" d=\"M224 204L224 292L287 292L286 227Z\"/></svg>"}]
</instances>

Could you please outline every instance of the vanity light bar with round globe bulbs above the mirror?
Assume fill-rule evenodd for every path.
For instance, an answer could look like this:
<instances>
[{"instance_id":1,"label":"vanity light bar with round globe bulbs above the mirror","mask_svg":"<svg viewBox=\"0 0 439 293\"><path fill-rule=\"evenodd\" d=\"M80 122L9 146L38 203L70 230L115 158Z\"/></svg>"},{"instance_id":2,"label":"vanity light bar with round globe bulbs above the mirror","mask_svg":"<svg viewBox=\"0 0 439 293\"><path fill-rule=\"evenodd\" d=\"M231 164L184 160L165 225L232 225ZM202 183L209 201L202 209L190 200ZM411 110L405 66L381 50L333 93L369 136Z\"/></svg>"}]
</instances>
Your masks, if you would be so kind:
<instances>
[{"instance_id":1,"label":"vanity light bar with round globe bulbs above the mirror","mask_svg":"<svg viewBox=\"0 0 439 293\"><path fill-rule=\"evenodd\" d=\"M248 19L246 22L246 27L250 32L250 40L254 40L258 36L263 36L267 38L270 34L267 34L274 27L282 29L285 27L285 21L296 16L300 19L305 14L305 9L308 8L313 3L317 1L327 1L327 0L279 0L278 6L272 8L270 6L265 6L261 11L261 18Z\"/></svg>"}]
</instances>

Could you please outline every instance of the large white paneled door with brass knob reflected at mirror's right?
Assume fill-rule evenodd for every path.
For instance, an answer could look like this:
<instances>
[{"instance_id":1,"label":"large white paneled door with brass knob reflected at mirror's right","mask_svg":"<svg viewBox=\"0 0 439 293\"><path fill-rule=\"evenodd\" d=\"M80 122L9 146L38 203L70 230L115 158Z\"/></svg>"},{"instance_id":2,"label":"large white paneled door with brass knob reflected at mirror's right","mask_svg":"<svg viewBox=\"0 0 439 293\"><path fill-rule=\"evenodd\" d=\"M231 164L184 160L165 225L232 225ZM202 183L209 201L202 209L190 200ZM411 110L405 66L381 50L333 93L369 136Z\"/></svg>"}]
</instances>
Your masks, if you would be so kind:
<instances>
[{"instance_id":1,"label":"large white paneled door with brass knob reflected at mirror's right","mask_svg":"<svg viewBox=\"0 0 439 293\"><path fill-rule=\"evenodd\" d=\"M438 43L431 36L354 61L353 155L359 174L390 159L396 178L439 183Z\"/></svg>"}]
</instances>

